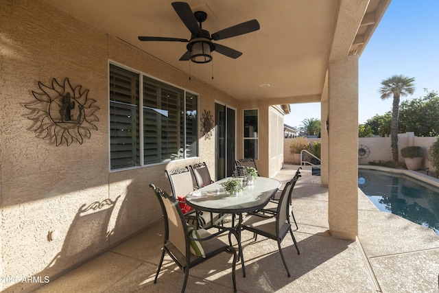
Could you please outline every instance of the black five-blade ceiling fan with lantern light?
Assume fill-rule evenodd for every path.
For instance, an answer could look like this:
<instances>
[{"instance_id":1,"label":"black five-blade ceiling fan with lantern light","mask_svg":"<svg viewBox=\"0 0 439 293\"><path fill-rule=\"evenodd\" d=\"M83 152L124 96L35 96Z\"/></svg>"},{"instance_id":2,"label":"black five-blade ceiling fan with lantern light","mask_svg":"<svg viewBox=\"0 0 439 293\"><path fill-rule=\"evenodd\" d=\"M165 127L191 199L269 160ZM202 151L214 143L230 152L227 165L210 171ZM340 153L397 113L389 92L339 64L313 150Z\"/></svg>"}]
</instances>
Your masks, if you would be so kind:
<instances>
[{"instance_id":1,"label":"black five-blade ceiling fan with lantern light","mask_svg":"<svg viewBox=\"0 0 439 293\"><path fill-rule=\"evenodd\" d=\"M172 2L172 7L176 10L178 16L191 32L191 39L185 38L166 38L161 36L139 36L139 40L143 41L167 41L167 42L183 42L188 43L187 51L180 58L180 61L191 60L195 63L207 63L212 60L212 51L217 51L230 58L238 58L242 55L240 51L212 43L212 40L223 40L241 34L247 34L259 30L259 23L256 19L246 21L238 25L233 25L214 34L202 29L202 23L207 19L206 12L192 12L191 7L186 2Z\"/></svg>"}]
</instances>

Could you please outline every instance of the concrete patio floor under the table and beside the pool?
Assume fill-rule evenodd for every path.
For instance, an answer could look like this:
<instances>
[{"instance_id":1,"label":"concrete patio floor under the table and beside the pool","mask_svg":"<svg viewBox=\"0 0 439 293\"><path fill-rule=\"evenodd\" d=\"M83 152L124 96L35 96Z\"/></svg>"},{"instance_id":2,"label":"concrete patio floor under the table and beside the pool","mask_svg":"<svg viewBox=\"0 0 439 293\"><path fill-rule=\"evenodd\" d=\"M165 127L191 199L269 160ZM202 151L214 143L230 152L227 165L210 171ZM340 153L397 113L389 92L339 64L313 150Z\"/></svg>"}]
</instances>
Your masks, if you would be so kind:
<instances>
[{"instance_id":1,"label":"concrete patio floor under the table and beside the pool","mask_svg":"<svg viewBox=\"0 0 439 293\"><path fill-rule=\"evenodd\" d=\"M275 178L285 183L298 167L285 165ZM293 198L300 255L291 237L282 242L292 276L287 277L275 241L259 236L254 242L244 231L247 277L237 263L238 292L439 291L439 237L431 229L378 211L359 191L357 241L330 237L327 188L320 187L320 177L311 176L309 166ZM162 244L160 220L37 292L180 292L184 274L169 257L153 282ZM191 269L186 292L233 292L230 263L223 253Z\"/></svg>"}]
</instances>

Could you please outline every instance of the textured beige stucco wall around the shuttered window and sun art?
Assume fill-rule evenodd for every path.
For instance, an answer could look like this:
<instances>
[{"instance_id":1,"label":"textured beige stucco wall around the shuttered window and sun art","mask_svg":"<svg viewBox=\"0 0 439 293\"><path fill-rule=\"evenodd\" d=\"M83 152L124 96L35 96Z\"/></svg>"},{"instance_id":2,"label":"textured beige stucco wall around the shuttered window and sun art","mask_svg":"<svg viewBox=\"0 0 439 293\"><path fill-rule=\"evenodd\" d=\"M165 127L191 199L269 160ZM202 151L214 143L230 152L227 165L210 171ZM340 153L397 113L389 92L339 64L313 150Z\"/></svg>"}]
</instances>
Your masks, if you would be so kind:
<instances>
[{"instance_id":1,"label":"textured beige stucco wall around the shuttered window and sun art","mask_svg":"<svg viewBox=\"0 0 439 293\"><path fill-rule=\"evenodd\" d=\"M119 172L108 171L108 60L114 60L200 95L200 113L214 101L237 100L189 80L147 54L99 32L44 1L0 1L0 272L54 277L161 220L148 185L170 191L165 169L206 161L215 165L215 141L200 139L200 158ZM40 139L30 130L25 104L38 102L38 82L69 78L89 90L99 121L82 144ZM53 131L53 130L52 130ZM201 135L201 134L200 134ZM90 209L115 201L114 209ZM49 232L58 237L49 241ZM32 290L38 284L5 284Z\"/></svg>"}]
</instances>

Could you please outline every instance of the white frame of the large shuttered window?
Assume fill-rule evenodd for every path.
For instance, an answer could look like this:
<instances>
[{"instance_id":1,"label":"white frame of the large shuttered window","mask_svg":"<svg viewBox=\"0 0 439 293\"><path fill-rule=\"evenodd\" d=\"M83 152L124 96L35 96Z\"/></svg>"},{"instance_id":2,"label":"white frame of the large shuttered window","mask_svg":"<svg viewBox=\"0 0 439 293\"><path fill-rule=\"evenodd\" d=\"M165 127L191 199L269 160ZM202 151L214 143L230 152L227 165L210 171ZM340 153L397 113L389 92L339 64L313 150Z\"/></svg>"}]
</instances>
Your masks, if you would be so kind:
<instances>
[{"instance_id":1,"label":"white frame of the large shuttered window","mask_svg":"<svg viewBox=\"0 0 439 293\"><path fill-rule=\"evenodd\" d=\"M111 113L110 113L110 66L114 65L116 67L120 67L121 69L125 69L127 71L131 71L132 73L138 74L139 75L139 122L137 124L137 127L139 128L139 165L134 165L131 167L121 167L121 168L117 168L117 169L112 169L111 168ZM156 78L153 75L147 74L143 71L137 70L137 69L133 69L131 67L128 67L126 65L123 65L119 62L116 62L114 60L108 60L108 169L109 172L119 172L119 171L124 171L124 170L128 170L128 169L138 169L141 167L152 167L154 165L162 165L162 164L167 164L169 162L174 162L174 161L182 161L182 160L187 160L187 159L194 159L194 158L199 158L200 156L200 121L199 121L199 113L200 113L200 94L195 93L194 91L189 91L187 89L182 88L181 86L177 86L176 84L171 84L170 82L166 82L165 80L161 80L159 78ZM183 135L184 135L184 140L180 141L180 138L178 139L178 143L180 143L180 145L183 146L183 157L182 158L178 158L178 159L174 159L174 160L166 160L166 161L160 161L160 162L156 162L156 163L149 163L149 164L145 164L145 132L143 129L143 125L144 125L144 105L143 105L143 99L144 99L144 91L143 91L143 81L144 81L144 77L146 78L150 78L151 80L154 80L155 82L158 83L163 83L166 86L171 86L174 87L176 90L178 91L182 91L183 95L182 95L182 101L184 102L184 104L182 105L182 107L180 108L180 111L182 113L187 113L187 95L192 95L197 97L197 101L195 104L195 111L196 111L196 154L194 154L193 156L187 156L188 153L188 149L186 148L187 145L187 123L186 123L186 119L183 119L183 121L185 121L185 126L183 127ZM180 129L176 130L178 133L180 133ZM178 134L179 136L179 134Z\"/></svg>"}]
</instances>

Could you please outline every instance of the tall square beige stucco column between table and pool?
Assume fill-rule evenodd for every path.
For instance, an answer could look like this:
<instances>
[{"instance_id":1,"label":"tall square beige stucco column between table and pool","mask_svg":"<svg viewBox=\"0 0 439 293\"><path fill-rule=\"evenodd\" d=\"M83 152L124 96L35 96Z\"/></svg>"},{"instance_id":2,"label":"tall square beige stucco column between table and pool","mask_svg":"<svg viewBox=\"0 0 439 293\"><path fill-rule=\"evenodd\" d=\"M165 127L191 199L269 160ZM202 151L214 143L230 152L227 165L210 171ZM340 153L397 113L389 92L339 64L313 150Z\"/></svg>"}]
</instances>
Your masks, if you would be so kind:
<instances>
[{"instance_id":1,"label":"tall square beige stucco column between table and pool","mask_svg":"<svg viewBox=\"0 0 439 293\"><path fill-rule=\"evenodd\" d=\"M358 234L358 56L329 64L329 208L331 235Z\"/></svg>"}]
</instances>

